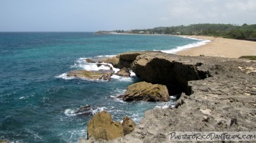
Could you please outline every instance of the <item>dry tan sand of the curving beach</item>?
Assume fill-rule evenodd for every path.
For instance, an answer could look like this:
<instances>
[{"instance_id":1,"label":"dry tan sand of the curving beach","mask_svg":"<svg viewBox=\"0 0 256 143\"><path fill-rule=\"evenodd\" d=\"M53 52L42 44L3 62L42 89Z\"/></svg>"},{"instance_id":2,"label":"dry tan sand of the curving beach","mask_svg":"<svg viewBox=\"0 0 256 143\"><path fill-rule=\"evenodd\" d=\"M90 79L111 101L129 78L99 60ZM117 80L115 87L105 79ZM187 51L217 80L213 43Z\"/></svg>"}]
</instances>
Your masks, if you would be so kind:
<instances>
[{"instance_id":1,"label":"dry tan sand of the curving beach","mask_svg":"<svg viewBox=\"0 0 256 143\"><path fill-rule=\"evenodd\" d=\"M203 46L193 47L176 54L183 56L221 56L239 58L240 56L256 56L256 41L244 41L235 39L224 39L214 36L188 36L196 39L211 40Z\"/></svg>"}]
</instances>

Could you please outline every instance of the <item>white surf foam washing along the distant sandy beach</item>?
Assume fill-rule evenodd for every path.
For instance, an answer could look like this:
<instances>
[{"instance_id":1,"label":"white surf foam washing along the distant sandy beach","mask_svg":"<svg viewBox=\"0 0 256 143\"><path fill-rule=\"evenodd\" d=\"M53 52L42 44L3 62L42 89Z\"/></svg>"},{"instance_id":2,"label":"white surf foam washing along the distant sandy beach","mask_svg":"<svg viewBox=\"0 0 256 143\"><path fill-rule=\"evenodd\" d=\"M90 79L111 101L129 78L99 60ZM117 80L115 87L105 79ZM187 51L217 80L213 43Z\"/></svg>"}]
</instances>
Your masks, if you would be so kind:
<instances>
[{"instance_id":1,"label":"white surf foam washing along the distant sandy beach","mask_svg":"<svg viewBox=\"0 0 256 143\"><path fill-rule=\"evenodd\" d=\"M183 38L195 39L195 38L186 37L186 36L183 36ZM196 43L193 43L193 44L187 44L185 46L177 46L176 49L161 50L161 51L163 51L165 53L169 53L169 54L175 54L178 51L183 51L183 50L190 49L190 48L193 48L193 47L196 47L196 46L202 46L202 45L211 41L211 40L204 40L204 39L196 39L196 40L198 40L198 41Z\"/></svg>"}]
</instances>

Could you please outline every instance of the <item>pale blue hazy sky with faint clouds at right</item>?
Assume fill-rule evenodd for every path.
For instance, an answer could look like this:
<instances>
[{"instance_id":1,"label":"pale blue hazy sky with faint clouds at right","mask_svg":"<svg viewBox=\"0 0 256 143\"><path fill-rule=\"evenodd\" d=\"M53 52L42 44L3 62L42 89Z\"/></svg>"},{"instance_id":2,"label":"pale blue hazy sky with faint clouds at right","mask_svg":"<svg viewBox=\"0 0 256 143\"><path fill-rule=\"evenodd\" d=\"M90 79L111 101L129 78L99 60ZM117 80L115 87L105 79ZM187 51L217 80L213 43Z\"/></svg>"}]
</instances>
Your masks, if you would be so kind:
<instances>
[{"instance_id":1,"label":"pale blue hazy sky with faint clouds at right","mask_svg":"<svg viewBox=\"0 0 256 143\"><path fill-rule=\"evenodd\" d=\"M0 0L0 31L256 24L256 0Z\"/></svg>"}]
</instances>

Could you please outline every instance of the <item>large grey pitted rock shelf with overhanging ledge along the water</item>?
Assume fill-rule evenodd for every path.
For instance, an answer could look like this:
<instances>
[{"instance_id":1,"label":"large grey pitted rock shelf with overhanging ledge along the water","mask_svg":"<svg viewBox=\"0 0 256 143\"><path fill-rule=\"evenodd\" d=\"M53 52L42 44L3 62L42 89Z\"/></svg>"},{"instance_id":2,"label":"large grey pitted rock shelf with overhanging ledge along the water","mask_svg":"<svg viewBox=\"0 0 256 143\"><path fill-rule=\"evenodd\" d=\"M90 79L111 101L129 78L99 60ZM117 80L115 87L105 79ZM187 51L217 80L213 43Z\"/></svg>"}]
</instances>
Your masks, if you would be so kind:
<instances>
[{"instance_id":1,"label":"large grey pitted rock shelf with overhanging ledge along the water","mask_svg":"<svg viewBox=\"0 0 256 143\"><path fill-rule=\"evenodd\" d=\"M109 142L169 142L169 132L255 132L256 62L162 52L128 52L104 60L130 68L180 94L175 108L151 109L134 132ZM81 142L106 142L91 138Z\"/></svg>"}]
</instances>

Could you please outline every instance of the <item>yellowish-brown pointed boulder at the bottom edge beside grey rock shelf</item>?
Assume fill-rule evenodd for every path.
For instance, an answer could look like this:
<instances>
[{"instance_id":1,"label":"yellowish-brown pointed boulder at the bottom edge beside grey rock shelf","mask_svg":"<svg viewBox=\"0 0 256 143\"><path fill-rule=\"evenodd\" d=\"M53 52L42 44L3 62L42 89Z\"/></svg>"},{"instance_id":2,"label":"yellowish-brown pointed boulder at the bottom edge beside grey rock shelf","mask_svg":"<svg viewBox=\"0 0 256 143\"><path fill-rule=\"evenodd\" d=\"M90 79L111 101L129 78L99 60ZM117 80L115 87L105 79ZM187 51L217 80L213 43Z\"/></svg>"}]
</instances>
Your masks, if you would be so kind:
<instances>
[{"instance_id":1,"label":"yellowish-brown pointed boulder at the bottom edge beside grey rock shelf","mask_svg":"<svg viewBox=\"0 0 256 143\"><path fill-rule=\"evenodd\" d=\"M113 122L111 114L106 111L99 112L93 116L88 123L87 139L112 140L117 137L124 137L124 131L120 122Z\"/></svg>"}]
</instances>

